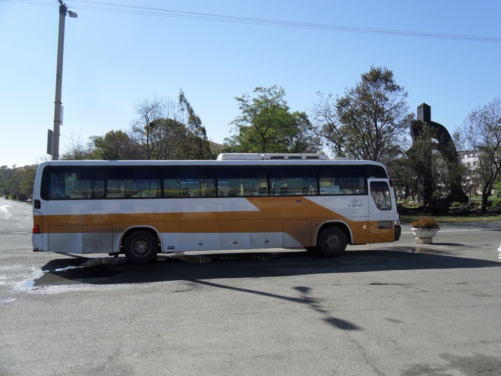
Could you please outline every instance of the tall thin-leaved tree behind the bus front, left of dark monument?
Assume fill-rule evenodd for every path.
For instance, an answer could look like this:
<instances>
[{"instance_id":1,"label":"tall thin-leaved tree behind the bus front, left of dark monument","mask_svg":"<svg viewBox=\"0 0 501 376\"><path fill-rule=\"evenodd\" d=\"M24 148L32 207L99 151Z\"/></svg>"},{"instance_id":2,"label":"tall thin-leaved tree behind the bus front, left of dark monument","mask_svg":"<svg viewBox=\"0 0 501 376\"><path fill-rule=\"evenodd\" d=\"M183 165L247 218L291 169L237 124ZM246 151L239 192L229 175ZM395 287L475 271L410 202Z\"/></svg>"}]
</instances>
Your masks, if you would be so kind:
<instances>
[{"instance_id":1,"label":"tall thin-leaved tree behind the bus front, left of dark monument","mask_svg":"<svg viewBox=\"0 0 501 376\"><path fill-rule=\"evenodd\" d=\"M391 164L402 155L414 114L392 71L371 67L344 96L319 96L313 108L317 128L337 156Z\"/></svg>"}]
</instances>

